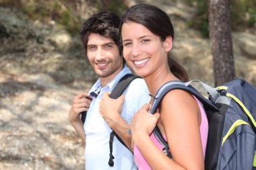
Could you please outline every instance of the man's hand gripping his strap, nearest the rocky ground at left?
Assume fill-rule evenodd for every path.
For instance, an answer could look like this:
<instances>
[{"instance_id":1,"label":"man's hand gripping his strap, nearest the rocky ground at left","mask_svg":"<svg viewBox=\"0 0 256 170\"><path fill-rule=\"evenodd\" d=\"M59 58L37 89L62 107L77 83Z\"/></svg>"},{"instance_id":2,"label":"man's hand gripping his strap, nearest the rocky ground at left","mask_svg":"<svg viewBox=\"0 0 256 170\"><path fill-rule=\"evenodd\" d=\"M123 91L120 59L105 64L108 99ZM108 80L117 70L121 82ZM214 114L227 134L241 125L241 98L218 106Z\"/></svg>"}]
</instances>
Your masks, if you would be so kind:
<instances>
[{"instance_id":1,"label":"man's hand gripping his strap, nearest the rocky ground at left","mask_svg":"<svg viewBox=\"0 0 256 170\"><path fill-rule=\"evenodd\" d=\"M80 93L73 98L73 103L69 111L69 122L78 122L80 120L79 114L87 111L90 107L92 97L88 93Z\"/></svg>"}]
</instances>

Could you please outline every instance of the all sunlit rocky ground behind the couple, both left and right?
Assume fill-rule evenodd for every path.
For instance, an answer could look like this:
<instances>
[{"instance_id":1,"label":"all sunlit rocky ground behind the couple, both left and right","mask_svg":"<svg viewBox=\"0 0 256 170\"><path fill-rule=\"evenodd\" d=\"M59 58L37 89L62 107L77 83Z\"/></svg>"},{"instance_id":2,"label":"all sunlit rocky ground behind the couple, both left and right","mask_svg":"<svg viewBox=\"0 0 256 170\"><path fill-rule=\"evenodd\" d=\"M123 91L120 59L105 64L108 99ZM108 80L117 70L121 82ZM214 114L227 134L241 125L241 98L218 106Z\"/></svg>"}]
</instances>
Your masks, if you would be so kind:
<instances>
[{"instance_id":1,"label":"all sunlit rocky ground behind the couple, both left and right","mask_svg":"<svg viewBox=\"0 0 256 170\"><path fill-rule=\"evenodd\" d=\"M146 2L172 16L174 58L192 79L213 84L210 42L184 22L194 9ZM233 38L236 75L256 85L256 36ZM0 169L84 169L84 145L68 121L73 96L96 80L82 49L79 38L55 22L32 22L0 7Z\"/></svg>"}]
</instances>

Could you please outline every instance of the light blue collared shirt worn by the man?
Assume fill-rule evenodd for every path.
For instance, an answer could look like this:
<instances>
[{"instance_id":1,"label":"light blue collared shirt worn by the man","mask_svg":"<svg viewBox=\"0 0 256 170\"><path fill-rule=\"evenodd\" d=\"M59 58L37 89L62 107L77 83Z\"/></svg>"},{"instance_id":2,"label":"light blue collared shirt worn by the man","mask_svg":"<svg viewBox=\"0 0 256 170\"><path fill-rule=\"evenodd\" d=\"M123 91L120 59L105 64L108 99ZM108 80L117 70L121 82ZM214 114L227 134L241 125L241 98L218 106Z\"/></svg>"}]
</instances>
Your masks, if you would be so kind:
<instances>
[{"instance_id":1,"label":"light blue collared shirt worn by the man","mask_svg":"<svg viewBox=\"0 0 256 170\"><path fill-rule=\"evenodd\" d=\"M109 137L112 130L104 121L99 112L99 103L105 92L110 92L117 85L118 81L128 73L128 67L124 69L105 87L101 87L100 80L92 86L89 93L92 95L92 103L87 112L84 130L86 132L86 170L129 170L137 169L133 154L119 142L115 137L113 142L114 167L108 165L109 160ZM96 97L93 93L98 94ZM135 79L124 92L125 102L121 116L129 124L133 115L145 104L149 103L149 91L143 79Z\"/></svg>"}]
</instances>

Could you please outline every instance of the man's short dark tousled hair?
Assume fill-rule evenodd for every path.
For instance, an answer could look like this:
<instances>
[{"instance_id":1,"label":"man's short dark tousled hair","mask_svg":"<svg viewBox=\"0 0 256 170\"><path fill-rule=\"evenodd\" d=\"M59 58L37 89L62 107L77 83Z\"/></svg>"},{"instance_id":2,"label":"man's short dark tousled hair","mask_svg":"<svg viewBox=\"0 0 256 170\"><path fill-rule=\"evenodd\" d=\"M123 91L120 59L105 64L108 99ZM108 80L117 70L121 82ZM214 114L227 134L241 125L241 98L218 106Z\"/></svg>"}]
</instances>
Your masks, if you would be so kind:
<instances>
[{"instance_id":1,"label":"man's short dark tousled hair","mask_svg":"<svg viewBox=\"0 0 256 170\"><path fill-rule=\"evenodd\" d=\"M119 23L120 18L117 14L110 11L103 11L91 15L82 26L80 32L81 40L84 44L84 48L87 52L88 37L90 34L99 34L106 38L111 38L115 44L119 47L119 54L122 54L122 46L119 37Z\"/></svg>"}]
</instances>

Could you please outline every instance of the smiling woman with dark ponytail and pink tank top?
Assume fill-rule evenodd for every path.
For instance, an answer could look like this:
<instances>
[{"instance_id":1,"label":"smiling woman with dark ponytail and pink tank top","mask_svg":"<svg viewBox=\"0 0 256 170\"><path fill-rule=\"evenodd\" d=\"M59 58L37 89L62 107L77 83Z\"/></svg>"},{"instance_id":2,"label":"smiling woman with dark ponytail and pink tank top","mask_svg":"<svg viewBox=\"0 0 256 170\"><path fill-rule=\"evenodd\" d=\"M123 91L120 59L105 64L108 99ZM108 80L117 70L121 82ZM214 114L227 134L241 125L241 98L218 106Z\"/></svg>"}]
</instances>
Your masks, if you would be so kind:
<instances>
[{"instance_id":1,"label":"smiling woman with dark ponytail and pink tank top","mask_svg":"<svg viewBox=\"0 0 256 170\"><path fill-rule=\"evenodd\" d=\"M168 15L152 5L134 5L123 15L119 31L127 64L145 79L152 96L130 124L135 163L139 169L204 169L208 124L201 103L176 89L164 96L158 113L150 114L154 95L164 83L188 80L185 69L168 57L174 39ZM105 96L100 110L120 109L110 102L115 101ZM156 125L168 141L172 159L162 153L152 133Z\"/></svg>"}]
</instances>

